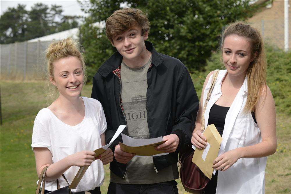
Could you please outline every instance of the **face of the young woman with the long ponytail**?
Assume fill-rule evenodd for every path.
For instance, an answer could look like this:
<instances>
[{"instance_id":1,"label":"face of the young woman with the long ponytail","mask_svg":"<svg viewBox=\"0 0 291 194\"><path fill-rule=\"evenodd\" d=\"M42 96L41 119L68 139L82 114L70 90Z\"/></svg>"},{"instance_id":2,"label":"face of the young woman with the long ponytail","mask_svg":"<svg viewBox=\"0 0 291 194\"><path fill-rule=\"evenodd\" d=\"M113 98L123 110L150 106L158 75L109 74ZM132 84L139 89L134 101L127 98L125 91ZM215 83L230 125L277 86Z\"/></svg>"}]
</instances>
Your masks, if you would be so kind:
<instances>
[{"instance_id":1,"label":"face of the young woman with the long ponytail","mask_svg":"<svg viewBox=\"0 0 291 194\"><path fill-rule=\"evenodd\" d=\"M253 60L251 45L248 39L229 35L223 41L223 64L230 75L245 75Z\"/></svg>"}]
</instances>

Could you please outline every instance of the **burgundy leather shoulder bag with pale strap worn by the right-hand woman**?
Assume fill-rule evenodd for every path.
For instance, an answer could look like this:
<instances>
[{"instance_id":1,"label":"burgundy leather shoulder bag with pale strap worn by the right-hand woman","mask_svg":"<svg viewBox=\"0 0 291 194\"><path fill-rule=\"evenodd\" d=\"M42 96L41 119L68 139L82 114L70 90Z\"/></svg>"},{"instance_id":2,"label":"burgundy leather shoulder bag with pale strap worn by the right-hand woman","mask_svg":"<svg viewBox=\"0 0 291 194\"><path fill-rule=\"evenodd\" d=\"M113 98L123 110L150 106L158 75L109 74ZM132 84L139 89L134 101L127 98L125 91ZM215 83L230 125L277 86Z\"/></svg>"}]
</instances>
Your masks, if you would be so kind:
<instances>
[{"instance_id":1,"label":"burgundy leather shoulder bag with pale strap worn by the right-hand woman","mask_svg":"<svg viewBox=\"0 0 291 194\"><path fill-rule=\"evenodd\" d=\"M205 130L204 113L207 106L207 102L210 100L211 92L214 88L215 81L217 79L219 70L216 70L212 76L212 82L210 89L207 93L207 98L203 106L203 113L201 119L201 131ZM210 181L203 172L192 162L194 149L191 145L186 147L183 153L179 156L179 168L180 168L180 179L185 191L189 193L203 194L207 183Z\"/></svg>"}]
</instances>

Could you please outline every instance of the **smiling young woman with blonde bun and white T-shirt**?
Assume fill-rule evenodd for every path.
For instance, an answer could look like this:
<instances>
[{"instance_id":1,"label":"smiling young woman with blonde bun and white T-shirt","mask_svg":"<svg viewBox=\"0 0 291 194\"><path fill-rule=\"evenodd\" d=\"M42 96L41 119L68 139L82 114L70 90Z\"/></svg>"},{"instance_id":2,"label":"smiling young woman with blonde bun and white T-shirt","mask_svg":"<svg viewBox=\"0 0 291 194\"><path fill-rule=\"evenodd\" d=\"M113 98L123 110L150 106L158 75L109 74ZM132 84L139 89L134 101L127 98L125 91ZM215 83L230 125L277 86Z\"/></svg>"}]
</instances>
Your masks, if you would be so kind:
<instances>
[{"instance_id":1,"label":"smiling young woman with blonde bun and white T-shirt","mask_svg":"<svg viewBox=\"0 0 291 194\"><path fill-rule=\"evenodd\" d=\"M103 164L113 160L111 149L97 157L93 150L105 145L107 128L102 105L96 99L79 97L84 85L84 58L78 44L67 38L49 45L46 53L49 81L58 98L41 109L34 121L32 144L36 171L46 171L45 192L68 186L80 166L89 166L72 192L100 193L104 181ZM100 160L99 160L100 159Z\"/></svg>"}]
</instances>

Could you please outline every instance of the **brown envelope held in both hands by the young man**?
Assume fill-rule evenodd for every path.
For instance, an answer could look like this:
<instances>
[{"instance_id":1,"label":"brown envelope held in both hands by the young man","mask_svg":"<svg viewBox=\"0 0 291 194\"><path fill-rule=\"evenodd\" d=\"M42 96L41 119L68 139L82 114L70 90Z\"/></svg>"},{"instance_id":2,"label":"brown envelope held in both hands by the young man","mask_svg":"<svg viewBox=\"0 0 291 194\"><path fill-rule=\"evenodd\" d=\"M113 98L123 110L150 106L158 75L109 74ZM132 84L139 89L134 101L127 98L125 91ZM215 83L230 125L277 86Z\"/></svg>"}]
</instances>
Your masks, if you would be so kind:
<instances>
[{"instance_id":1,"label":"brown envelope held in both hands by the young man","mask_svg":"<svg viewBox=\"0 0 291 194\"><path fill-rule=\"evenodd\" d=\"M164 142L166 142L166 141L160 141L158 143L153 143L153 144L143 145L143 146L127 146L127 145L119 142L119 145L120 145L120 149L123 152L135 153L138 156L153 156L156 154L165 153L165 152L160 152L160 151L155 150L156 146L161 145Z\"/></svg>"}]
</instances>

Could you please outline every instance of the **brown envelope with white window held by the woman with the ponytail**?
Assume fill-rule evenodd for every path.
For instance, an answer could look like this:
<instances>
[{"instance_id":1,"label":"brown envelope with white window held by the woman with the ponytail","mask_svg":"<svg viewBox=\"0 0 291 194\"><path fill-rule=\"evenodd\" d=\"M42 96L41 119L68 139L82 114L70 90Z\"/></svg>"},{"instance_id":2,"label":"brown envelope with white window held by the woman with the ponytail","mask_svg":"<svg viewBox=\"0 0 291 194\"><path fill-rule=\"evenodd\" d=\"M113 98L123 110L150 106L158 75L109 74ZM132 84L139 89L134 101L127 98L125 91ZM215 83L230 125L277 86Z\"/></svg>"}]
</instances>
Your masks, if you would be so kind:
<instances>
[{"instance_id":1,"label":"brown envelope with white window held by the woman with the ponytail","mask_svg":"<svg viewBox=\"0 0 291 194\"><path fill-rule=\"evenodd\" d=\"M192 162L200 168L206 177L211 179L213 173L213 161L217 158L222 138L214 124L208 125L203 135L207 139L207 147L205 149L196 148Z\"/></svg>"}]
</instances>

